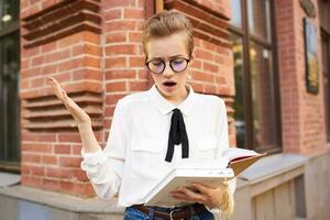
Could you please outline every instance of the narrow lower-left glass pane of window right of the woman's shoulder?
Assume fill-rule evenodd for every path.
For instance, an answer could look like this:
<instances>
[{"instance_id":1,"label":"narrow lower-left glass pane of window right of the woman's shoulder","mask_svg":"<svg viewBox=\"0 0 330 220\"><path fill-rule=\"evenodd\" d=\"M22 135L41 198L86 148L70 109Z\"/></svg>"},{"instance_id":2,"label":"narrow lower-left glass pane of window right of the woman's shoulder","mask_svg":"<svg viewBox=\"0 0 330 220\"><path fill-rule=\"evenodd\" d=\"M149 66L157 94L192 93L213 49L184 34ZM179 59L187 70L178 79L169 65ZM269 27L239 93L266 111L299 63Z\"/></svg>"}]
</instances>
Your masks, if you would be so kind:
<instances>
[{"instance_id":1,"label":"narrow lower-left glass pane of window right of the woman's shoulder","mask_svg":"<svg viewBox=\"0 0 330 220\"><path fill-rule=\"evenodd\" d=\"M245 117L243 106L243 40L237 34L232 34L232 51L234 58L234 80L235 80L235 97L234 97L234 124L237 129L237 146L245 147Z\"/></svg>"}]
</instances>

